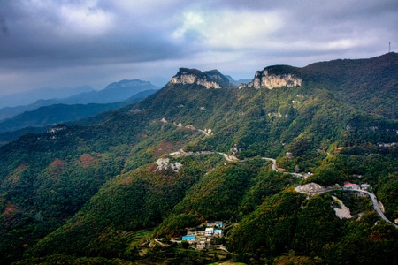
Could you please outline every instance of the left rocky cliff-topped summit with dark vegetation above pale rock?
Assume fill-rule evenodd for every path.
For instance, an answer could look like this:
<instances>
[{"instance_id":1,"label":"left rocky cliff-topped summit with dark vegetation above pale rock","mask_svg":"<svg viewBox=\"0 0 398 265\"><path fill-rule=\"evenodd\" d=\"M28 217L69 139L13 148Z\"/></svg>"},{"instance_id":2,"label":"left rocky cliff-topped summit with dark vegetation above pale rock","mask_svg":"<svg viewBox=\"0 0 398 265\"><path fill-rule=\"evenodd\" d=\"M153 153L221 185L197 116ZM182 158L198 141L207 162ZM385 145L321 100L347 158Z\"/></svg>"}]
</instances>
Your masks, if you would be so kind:
<instances>
[{"instance_id":1,"label":"left rocky cliff-topped summit with dark vegetation above pale rock","mask_svg":"<svg viewBox=\"0 0 398 265\"><path fill-rule=\"evenodd\" d=\"M201 72L196 69L180 68L180 71L172 77L170 82L181 85L196 84L207 89L233 87L226 76L218 72L218 70Z\"/></svg>"}]
</instances>

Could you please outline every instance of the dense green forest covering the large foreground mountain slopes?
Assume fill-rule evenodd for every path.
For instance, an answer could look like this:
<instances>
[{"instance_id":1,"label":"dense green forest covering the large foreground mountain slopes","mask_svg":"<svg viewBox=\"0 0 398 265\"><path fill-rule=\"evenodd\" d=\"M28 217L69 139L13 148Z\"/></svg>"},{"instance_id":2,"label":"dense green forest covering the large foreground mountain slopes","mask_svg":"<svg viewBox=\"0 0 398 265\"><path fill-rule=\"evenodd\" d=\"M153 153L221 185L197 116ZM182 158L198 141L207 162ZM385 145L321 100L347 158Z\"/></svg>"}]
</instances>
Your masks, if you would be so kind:
<instances>
[{"instance_id":1,"label":"dense green forest covering the large foreground mountain slopes","mask_svg":"<svg viewBox=\"0 0 398 265\"><path fill-rule=\"evenodd\" d=\"M398 230L369 197L295 192L369 184L398 218L398 55L266 69L302 85L170 82L142 102L1 147L0 263L398 263ZM181 148L192 153L170 155ZM159 169L159 158L181 166ZM336 215L332 196L351 218ZM173 241L209 220L226 223L213 243L228 252Z\"/></svg>"}]
</instances>

